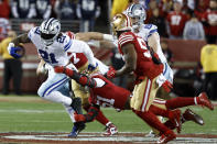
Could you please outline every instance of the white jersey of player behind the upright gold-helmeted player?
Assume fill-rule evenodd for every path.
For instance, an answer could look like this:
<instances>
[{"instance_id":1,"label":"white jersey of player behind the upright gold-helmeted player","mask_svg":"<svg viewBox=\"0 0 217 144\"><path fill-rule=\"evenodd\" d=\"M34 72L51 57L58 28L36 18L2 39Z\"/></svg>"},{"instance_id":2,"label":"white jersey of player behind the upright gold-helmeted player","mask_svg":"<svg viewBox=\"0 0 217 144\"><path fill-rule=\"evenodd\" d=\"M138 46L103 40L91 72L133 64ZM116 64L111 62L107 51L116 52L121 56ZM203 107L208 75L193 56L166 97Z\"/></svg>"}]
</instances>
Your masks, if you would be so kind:
<instances>
[{"instance_id":1,"label":"white jersey of player behind the upright gold-helmeted player","mask_svg":"<svg viewBox=\"0 0 217 144\"><path fill-rule=\"evenodd\" d=\"M153 34L153 33L158 33L158 26L154 24L142 24L140 26L139 33L137 33L137 35L139 35L140 37L142 37L145 42L148 42L148 38ZM159 55L160 59L162 63L166 63L166 58L162 52L161 45L158 46L158 52L156 54Z\"/></svg>"}]
</instances>

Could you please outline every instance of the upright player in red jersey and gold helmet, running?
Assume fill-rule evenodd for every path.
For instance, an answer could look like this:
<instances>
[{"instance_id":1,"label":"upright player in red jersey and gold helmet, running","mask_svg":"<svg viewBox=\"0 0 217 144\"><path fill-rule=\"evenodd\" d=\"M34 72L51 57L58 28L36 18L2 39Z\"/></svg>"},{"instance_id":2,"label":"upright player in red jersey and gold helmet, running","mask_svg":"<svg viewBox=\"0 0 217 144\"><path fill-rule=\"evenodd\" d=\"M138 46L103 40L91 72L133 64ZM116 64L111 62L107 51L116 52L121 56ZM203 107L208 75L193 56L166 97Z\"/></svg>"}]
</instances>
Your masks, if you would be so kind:
<instances>
[{"instance_id":1,"label":"upright player in red jersey and gold helmet, running","mask_svg":"<svg viewBox=\"0 0 217 144\"><path fill-rule=\"evenodd\" d=\"M159 89L156 78L163 68L158 55L149 51L144 41L131 32L131 23L127 15L118 14L112 22L112 27L113 33L118 36L119 52L123 55L126 65L117 71L110 69L107 76L112 78L133 71L137 80L130 103L131 108L150 126L161 132L161 140L160 140L161 143L175 139L175 134L159 121L156 113L150 111L150 106ZM188 102L194 103L194 99L188 100ZM208 100L207 102L208 107L213 109L211 103ZM161 111L161 109L156 111Z\"/></svg>"}]
</instances>

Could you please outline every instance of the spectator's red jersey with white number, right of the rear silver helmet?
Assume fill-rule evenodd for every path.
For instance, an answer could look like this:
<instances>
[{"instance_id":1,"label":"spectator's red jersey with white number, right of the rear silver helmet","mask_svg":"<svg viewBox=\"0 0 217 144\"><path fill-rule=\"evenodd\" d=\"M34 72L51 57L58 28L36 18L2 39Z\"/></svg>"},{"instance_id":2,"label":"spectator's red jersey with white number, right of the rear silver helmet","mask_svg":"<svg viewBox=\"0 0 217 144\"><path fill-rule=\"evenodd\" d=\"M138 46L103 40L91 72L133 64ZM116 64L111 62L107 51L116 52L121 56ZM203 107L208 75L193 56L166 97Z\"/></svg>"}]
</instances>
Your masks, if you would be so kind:
<instances>
[{"instance_id":1,"label":"spectator's red jersey with white number, right of the rear silver helmet","mask_svg":"<svg viewBox=\"0 0 217 144\"><path fill-rule=\"evenodd\" d=\"M167 14L167 22L172 35L182 36L185 23L187 21L187 15L180 12L172 11Z\"/></svg>"}]
</instances>

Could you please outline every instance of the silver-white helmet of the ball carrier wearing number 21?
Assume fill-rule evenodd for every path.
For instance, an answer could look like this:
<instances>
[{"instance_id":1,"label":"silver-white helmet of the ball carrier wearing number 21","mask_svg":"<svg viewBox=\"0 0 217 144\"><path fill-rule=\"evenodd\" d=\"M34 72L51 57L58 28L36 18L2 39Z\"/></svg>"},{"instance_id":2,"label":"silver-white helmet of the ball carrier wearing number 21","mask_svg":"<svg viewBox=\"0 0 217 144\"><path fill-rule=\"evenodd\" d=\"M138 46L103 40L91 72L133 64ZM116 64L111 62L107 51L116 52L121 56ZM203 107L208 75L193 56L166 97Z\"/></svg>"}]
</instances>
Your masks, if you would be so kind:
<instances>
[{"instance_id":1,"label":"silver-white helmet of the ball carrier wearing number 21","mask_svg":"<svg viewBox=\"0 0 217 144\"><path fill-rule=\"evenodd\" d=\"M54 18L43 21L40 25L41 38L46 46L54 43L59 32L61 23Z\"/></svg>"}]
</instances>

